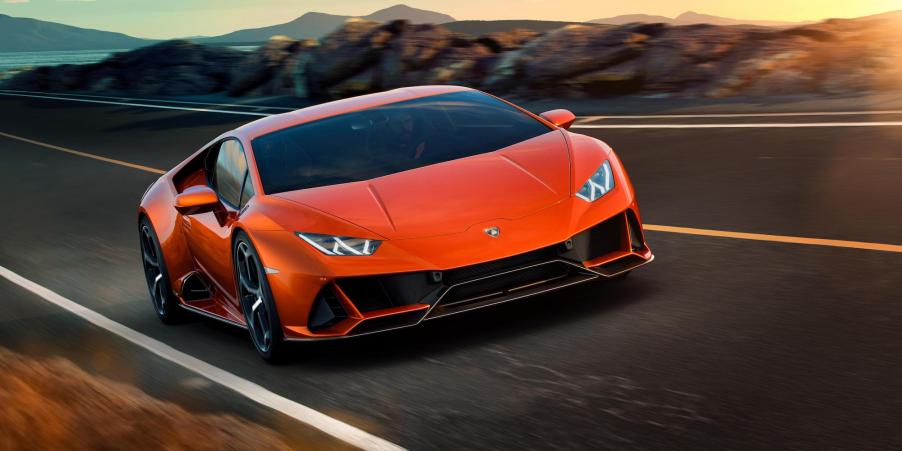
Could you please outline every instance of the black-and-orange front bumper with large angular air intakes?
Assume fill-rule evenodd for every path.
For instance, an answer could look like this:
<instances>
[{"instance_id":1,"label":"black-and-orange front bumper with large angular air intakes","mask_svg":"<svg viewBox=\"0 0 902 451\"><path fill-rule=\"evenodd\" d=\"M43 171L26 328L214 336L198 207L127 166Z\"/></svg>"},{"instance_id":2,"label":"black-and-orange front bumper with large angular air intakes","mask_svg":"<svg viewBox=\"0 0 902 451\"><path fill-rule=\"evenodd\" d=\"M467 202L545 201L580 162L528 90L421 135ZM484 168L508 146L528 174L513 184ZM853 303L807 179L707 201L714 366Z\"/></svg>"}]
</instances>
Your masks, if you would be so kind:
<instances>
[{"instance_id":1,"label":"black-and-orange front bumper with large angular air intakes","mask_svg":"<svg viewBox=\"0 0 902 451\"><path fill-rule=\"evenodd\" d=\"M478 308L612 278L652 261L634 205L561 242L444 271L333 278L289 340L343 338L411 327Z\"/></svg>"}]
</instances>

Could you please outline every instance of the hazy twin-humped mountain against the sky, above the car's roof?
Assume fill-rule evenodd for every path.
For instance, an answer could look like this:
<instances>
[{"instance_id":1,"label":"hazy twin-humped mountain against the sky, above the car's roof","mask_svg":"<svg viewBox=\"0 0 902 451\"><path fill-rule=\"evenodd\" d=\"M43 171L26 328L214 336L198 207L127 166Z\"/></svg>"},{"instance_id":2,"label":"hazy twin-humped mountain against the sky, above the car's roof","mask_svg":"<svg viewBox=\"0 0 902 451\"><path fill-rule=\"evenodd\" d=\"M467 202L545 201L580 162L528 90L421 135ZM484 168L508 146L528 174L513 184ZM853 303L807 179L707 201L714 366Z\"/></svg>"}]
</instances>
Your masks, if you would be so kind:
<instances>
[{"instance_id":1,"label":"hazy twin-humped mountain against the sky, above the car's roof","mask_svg":"<svg viewBox=\"0 0 902 451\"><path fill-rule=\"evenodd\" d=\"M319 38L335 31L335 29L342 26L348 19L354 17L355 16L340 16L336 14L310 12L291 22L262 28L238 30L221 36L200 38L195 39L194 41L202 44L251 43L263 42L277 35L288 36L295 39ZM367 16L359 16L359 18L371 20L373 22L390 22L392 20L405 19L412 23L443 23L454 20L453 17L447 14L411 8L406 5L395 5L381 9Z\"/></svg>"}]
</instances>

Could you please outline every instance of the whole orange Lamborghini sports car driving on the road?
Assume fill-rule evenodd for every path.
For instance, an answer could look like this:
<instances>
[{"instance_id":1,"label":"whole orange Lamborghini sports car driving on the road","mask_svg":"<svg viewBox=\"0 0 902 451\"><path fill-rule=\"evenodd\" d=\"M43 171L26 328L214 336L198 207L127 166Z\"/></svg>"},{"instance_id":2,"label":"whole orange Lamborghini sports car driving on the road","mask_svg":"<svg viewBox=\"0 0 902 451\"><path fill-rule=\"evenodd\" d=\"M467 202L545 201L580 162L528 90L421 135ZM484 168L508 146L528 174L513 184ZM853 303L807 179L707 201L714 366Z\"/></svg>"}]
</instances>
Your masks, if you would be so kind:
<instances>
[{"instance_id":1,"label":"whole orange Lamborghini sports car driving on the road","mask_svg":"<svg viewBox=\"0 0 902 451\"><path fill-rule=\"evenodd\" d=\"M648 263L605 143L480 91L396 89L227 132L144 194L154 308L287 341L359 336Z\"/></svg>"}]
</instances>

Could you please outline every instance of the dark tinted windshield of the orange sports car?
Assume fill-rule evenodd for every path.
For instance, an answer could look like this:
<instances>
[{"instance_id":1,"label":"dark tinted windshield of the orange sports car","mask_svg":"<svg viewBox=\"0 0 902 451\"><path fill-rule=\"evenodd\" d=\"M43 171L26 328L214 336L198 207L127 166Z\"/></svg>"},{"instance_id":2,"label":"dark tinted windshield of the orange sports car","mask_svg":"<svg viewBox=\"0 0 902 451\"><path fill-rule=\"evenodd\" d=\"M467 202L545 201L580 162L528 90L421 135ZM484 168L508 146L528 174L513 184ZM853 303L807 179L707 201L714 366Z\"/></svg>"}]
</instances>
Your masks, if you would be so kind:
<instances>
[{"instance_id":1,"label":"dark tinted windshield of the orange sports car","mask_svg":"<svg viewBox=\"0 0 902 451\"><path fill-rule=\"evenodd\" d=\"M321 119L252 145L264 191L279 193L492 152L550 130L507 103L466 91Z\"/></svg>"}]
</instances>

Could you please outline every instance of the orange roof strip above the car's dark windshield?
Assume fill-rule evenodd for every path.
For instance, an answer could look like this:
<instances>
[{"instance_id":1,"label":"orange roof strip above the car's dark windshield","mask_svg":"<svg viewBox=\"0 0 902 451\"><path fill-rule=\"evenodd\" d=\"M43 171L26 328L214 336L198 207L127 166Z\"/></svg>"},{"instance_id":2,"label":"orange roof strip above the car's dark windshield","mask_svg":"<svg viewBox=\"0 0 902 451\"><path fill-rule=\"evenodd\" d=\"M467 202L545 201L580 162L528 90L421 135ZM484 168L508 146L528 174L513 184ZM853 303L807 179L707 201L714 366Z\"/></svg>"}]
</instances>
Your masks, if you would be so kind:
<instances>
[{"instance_id":1,"label":"orange roof strip above the car's dark windshield","mask_svg":"<svg viewBox=\"0 0 902 451\"><path fill-rule=\"evenodd\" d=\"M377 106L387 105L390 103L403 102L421 97L431 97L440 94L448 94L452 92L475 91L471 88L463 86L412 86L408 88L398 88L391 91L377 92L358 97L350 97L347 99L336 100L334 102L322 103L300 110L291 111L283 114L276 114L254 122L245 124L232 133L250 141L259 136L272 133L296 125L305 124L307 122L319 119L337 116L339 114L350 113L353 111L366 110Z\"/></svg>"}]
</instances>

